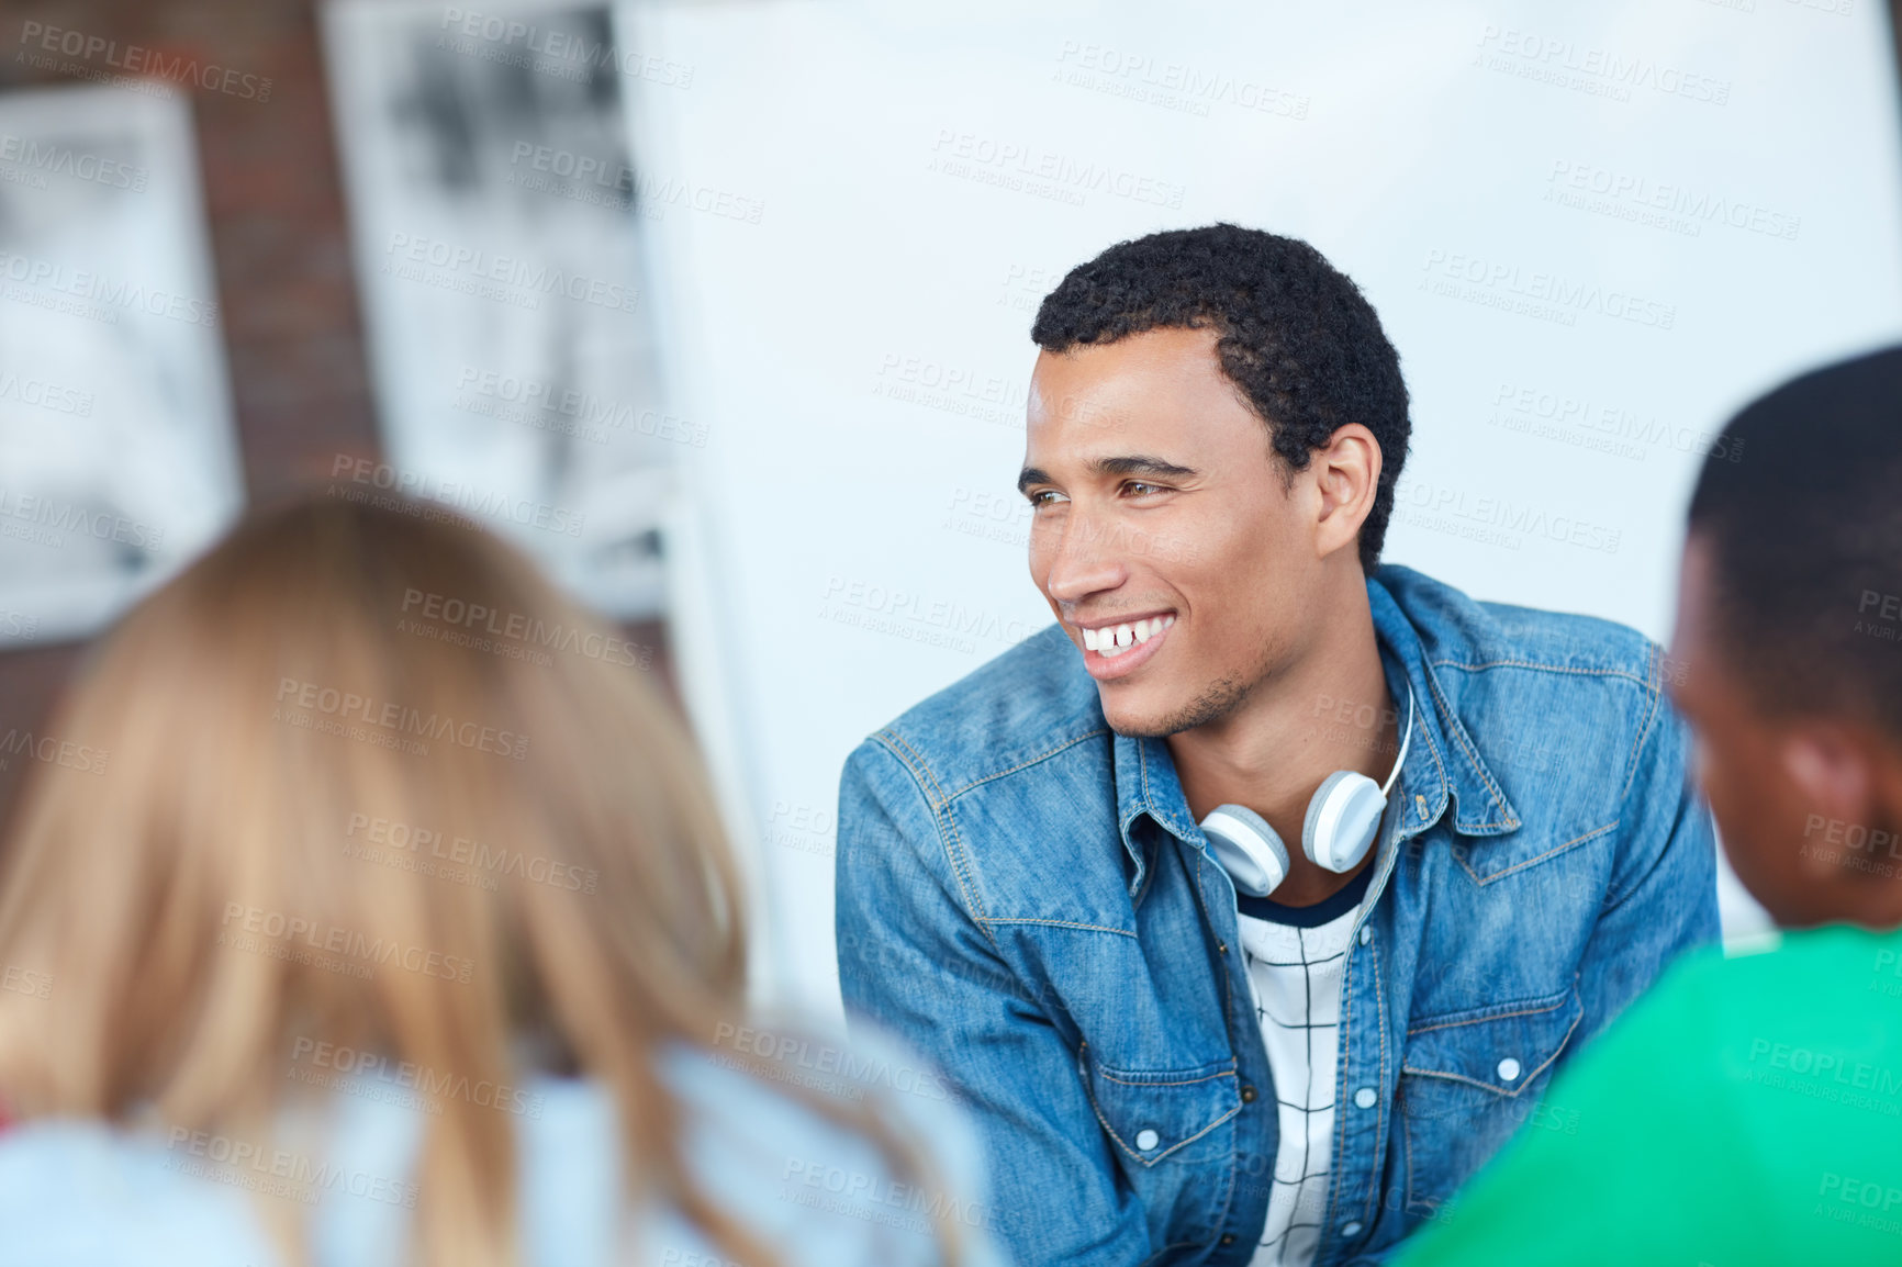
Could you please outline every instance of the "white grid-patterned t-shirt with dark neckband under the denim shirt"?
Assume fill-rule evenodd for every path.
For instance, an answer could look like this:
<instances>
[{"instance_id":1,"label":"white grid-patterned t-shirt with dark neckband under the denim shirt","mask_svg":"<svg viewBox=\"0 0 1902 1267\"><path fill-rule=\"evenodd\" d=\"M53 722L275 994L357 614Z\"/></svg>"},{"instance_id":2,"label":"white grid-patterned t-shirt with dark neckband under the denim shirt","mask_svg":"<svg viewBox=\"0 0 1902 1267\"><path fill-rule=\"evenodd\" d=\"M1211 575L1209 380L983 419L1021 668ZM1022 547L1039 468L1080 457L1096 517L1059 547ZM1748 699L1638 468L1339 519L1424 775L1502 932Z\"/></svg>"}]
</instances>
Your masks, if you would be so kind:
<instances>
[{"instance_id":1,"label":"white grid-patterned t-shirt with dark neckband under the denim shirt","mask_svg":"<svg viewBox=\"0 0 1902 1267\"><path fill-rule=\"evenodd\" d=\"M1333 1151L1341 978L1354 915L1375 864L1364 866L1339 892L1314 906L1238 900L1248 984L1269 1048L1282 1128L1269 1219L1250 1267L1307 1267L1314 1261Z\"/></svg>"}]
</instances>

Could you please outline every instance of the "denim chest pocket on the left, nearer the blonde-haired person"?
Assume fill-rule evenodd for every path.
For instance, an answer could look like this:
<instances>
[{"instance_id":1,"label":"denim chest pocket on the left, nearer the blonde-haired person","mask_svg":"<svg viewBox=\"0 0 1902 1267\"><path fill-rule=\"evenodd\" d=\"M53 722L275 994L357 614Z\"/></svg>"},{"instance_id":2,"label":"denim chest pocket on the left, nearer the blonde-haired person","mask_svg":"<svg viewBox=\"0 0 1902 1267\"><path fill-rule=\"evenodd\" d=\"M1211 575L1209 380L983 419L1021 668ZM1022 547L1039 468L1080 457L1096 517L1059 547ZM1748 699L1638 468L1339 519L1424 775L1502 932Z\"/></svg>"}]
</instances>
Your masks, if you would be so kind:
<instances>
[{"instance_id":1,"label":"denim chest pocket on the left, nearer the blonde-haired person","mask_svg":"<svg viewBox=\"0 0 1902 1267\"><path fill-rule=\"evenodd\" d=\"M1232 1060L1196 1069L1115 1069L1084 1043L1077 1069L1103 1134L1126 1162L1232 1162L1231 1132L1219 1130L1242 1111Z\"/></svg>"}]
</instances>

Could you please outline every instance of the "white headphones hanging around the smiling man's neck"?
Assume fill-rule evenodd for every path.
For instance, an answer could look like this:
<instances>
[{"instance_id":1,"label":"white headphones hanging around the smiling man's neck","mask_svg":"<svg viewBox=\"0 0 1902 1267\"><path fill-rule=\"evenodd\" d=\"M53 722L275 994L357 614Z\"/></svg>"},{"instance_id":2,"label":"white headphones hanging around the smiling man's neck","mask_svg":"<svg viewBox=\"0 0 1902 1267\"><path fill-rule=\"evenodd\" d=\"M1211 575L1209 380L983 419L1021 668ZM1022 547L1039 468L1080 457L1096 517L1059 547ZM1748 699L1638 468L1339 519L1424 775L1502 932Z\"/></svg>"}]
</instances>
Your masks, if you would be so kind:
<instances>
[{"instance_id":1,"label":"white headphones hanging around the smiling man's neck","mask_svg":"<svg viewBox=\"0 0 1902 1267\"><path fill-rule=\"evenodd\" d=\"M1328 871L1352 871L1368 856L1373 833L1387 812L1387 793L1400 778L1413 742L1413 685L1407 683L1407 729L1400 732L1400 755L1385 784L1358 770L1335 770L1320 780L1301 820L1301 852ZM1269 822L1246 805L1217 805L1202 820L1202 833L1215 848L1238 892L1265 898L1288 879L1288 847Z\"/></svg>"}]
</instances>

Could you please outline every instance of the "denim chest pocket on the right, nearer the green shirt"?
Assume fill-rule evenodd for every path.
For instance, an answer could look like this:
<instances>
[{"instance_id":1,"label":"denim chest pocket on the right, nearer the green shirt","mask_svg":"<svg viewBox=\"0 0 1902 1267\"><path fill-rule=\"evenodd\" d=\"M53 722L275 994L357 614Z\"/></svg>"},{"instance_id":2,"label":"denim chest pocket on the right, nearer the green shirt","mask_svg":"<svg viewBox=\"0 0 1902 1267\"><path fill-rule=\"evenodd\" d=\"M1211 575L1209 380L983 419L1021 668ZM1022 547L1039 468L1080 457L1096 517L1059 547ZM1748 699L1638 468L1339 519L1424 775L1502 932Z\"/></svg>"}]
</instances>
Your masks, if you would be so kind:
<instances>
[{"instance_id":1,"label":"denim chest pocket on the right, nearer the green shirt","mask_svg":"<svg viewBox=\"0 0 1902 1267\"><path fill-rule=\"evenodd\" d=\"M1573 984L1413 1023L1400 1063L1409 1214L1432 1214L1535 1117L1581 1016Z\"/></svg>"}]
</instances>

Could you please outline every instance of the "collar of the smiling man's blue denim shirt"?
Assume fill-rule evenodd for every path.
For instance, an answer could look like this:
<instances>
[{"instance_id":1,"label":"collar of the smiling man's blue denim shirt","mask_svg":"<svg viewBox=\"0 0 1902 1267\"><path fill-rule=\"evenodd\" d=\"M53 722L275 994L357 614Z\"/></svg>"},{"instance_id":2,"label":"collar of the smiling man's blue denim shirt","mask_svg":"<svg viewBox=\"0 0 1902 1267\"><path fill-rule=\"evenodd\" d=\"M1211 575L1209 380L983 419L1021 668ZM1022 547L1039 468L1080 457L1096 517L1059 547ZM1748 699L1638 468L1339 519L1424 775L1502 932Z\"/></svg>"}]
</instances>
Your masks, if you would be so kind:
<instances>
[{"instance_id":1,"label":"collar of the smiling man's blue denim shirt","mask_svg":"<svg viewBox=\"0 0 1902 1267\"><path fill-rule=\"evenodd\" d=\"M1402 837L1417 835L1436 824L1449 801L1453 829L1461 835L1487 837L1516 831L1520 814L1485 767L1459 713L1453 711L1446 685L1426 662L1419 632L1387 586L1371 576L1368 607L1394 706L1404 710L1407 687L1413 689L1413 746L1394 788ZM1116 826L1132 862L1128 875L1134 900L1149 877L1151 850L1156 845L1149 824L1202 852L1208 852L1208 839L1189 810L1166 740L1116 734L1113 748Z\"/></svg>"}]
</instances>

